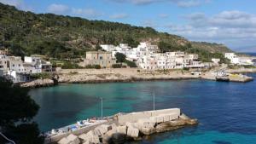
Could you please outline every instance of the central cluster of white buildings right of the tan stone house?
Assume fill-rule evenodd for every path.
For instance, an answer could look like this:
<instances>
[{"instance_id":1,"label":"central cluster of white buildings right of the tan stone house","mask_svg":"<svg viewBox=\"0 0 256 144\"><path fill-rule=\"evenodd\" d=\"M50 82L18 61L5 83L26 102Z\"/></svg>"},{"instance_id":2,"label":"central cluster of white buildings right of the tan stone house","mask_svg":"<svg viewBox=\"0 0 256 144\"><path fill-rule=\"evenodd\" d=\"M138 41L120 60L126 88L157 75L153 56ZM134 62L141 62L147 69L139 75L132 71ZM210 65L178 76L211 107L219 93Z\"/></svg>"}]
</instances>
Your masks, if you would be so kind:
<instances>
[{"instance_id":1,"label":"central cluster of white buildings right of the tan stone house","mask_svg":"<svg viewBox=\"0 0 256 144\"><path fill-rule=\"evenodd\" d=\"M199 61L198 55L186 55L182 51L160 53L157 45L143 42L137 48L129 47L126 43L120 43L119 46L101 45L102 49L111 51L114 56L116 53L126 55L127 60L136 61L138 66L143 69L172 69L172 68L201 68L204 65Z\"/></svg>"}]
</instances>

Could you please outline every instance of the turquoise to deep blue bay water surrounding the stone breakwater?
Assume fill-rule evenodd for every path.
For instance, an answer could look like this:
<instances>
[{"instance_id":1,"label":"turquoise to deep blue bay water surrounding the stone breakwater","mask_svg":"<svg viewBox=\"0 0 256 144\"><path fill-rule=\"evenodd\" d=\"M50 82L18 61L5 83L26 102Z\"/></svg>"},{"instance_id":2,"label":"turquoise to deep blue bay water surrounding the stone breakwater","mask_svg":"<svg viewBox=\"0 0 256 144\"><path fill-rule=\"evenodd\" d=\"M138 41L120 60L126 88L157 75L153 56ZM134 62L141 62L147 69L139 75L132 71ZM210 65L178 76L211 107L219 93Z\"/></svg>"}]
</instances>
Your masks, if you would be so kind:
<instances>
[{"instance_id":1,"label":"turquoise to deep blue bay water surrounding the stone breakwater","mask_svg":"<svg viewBox=\"0 0 256 144\"><path fill-rule=\"evenodd\" d=\"M251 74L256 78L256 74ZM150 136L134 144L255 144L256 81L225 83L177 80L110 84L61 84L32 89L40 105L41 130L51 130L77 120L117 112L180 107L200 124Z\"/></svg>"}]
</instances>

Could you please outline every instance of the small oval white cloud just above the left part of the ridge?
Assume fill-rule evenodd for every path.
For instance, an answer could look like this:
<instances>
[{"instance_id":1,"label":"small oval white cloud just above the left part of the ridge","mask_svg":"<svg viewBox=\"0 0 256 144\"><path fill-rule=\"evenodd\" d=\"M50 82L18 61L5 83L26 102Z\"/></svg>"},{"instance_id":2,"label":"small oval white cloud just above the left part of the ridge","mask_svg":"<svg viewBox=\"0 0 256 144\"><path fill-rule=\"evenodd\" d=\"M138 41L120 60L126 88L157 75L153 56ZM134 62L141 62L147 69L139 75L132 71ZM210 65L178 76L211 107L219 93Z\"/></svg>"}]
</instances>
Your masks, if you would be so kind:
<instances>
[{"instance_id":1,"label":"small oval white cloud just above the left part of the ridge","mask_svg":"<svg viewBox=\"0 0 256 144\"><path fill-rule=\"evenodd\" d=\"M69 10L70 9L68 8L67 5L56 4L56 3L50 4L47 8L47 11L49 13L54 13L54 14L67 14Z\"/></svg>"}]
</instances>

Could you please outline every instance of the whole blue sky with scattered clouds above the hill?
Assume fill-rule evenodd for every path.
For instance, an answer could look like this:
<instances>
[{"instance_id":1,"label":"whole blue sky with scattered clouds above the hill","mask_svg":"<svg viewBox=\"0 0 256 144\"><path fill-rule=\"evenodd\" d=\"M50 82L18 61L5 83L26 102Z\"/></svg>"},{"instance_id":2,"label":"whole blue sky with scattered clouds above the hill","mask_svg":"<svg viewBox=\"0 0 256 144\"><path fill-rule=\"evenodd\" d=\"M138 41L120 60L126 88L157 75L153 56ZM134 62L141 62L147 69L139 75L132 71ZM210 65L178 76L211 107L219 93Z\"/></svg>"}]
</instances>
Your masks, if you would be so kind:
<instances>
[{"instance_id":1,"label":"whole blue sky with scattered clouds above the hill","mask_svg":"<svg viewBox=\"0 0 256 144\"><path fill-rule=\"evenodd\" d=\"M150 26L191 41L256 52L255 0L0 0L37 14Z\"/></svg>"}]
</instances>

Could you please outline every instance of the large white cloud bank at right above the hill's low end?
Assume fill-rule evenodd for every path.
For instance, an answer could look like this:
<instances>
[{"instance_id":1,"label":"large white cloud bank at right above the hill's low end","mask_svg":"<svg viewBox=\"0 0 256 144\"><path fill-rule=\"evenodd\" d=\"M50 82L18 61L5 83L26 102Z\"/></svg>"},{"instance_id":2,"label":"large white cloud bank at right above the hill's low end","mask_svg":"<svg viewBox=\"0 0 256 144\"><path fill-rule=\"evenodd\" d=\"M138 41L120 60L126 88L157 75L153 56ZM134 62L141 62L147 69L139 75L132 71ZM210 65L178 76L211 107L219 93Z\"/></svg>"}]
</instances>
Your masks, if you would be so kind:
<instances>
[{"instance_id":1,"label":"large white cloud bank at right above the hill's low end","mask_svg":"<svg viewBox=\"0 0 256 144\"><path fill-rule=\"evenodd\" d=\"M226 43L230 46L256 44L256 15L242 11L224 11L207 17L203 13L183 16L186 25L168 26L170 32L196 41Z\"/></svg>"}]
</instances>

